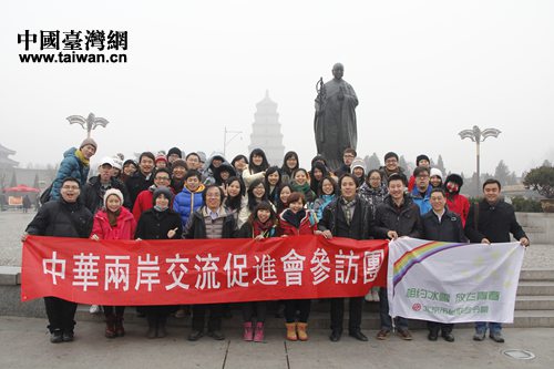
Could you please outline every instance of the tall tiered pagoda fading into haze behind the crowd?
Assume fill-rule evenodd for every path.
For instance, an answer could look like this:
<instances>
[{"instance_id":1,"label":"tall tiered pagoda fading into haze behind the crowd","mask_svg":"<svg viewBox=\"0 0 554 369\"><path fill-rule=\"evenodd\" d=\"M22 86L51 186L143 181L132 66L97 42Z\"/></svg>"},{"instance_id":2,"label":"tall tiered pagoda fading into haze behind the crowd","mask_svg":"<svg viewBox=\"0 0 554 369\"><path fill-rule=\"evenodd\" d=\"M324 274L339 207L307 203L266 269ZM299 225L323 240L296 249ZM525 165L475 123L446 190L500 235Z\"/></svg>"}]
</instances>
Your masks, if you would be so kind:
<instances>
[{"instance_id":1,"label":"tall tiered pagoda fading into haze behind the crowd","mask_svg":"<svg viewBox=\"0 0 554 369\"><path fill-rule=\"evenodd\" d=\"M285 146L280 133L279 114L277 103L269 99L268 91L266 91L265 99L256 104L248 152L257 147L264 150L270 165L283 164Z\"/></svg>"}]
</instances>

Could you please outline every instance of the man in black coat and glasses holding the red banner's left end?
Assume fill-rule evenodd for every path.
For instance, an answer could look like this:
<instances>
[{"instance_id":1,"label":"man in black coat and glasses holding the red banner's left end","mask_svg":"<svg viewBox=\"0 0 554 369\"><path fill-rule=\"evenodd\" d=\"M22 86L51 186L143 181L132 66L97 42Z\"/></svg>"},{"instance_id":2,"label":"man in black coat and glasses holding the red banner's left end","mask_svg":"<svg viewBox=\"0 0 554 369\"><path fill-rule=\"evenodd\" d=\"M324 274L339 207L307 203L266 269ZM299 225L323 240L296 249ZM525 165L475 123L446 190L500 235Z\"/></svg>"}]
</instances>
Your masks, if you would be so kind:
<instances>
[{"instance_id":1,"label":"man in black coat and glasses holding the red banner's left end","mask_svg":"<svg viewBox=\"0 0 554 369\"><path fill-rule=\"evenodd\" d=\"M92 230L92 214L79 201L81 184L73 177L62 181L60 198L45 203L27 226L27 235L89 238ZM76 304L58 297L44 297L52 344L73 340Z\"/></svg>"}]
</instances>

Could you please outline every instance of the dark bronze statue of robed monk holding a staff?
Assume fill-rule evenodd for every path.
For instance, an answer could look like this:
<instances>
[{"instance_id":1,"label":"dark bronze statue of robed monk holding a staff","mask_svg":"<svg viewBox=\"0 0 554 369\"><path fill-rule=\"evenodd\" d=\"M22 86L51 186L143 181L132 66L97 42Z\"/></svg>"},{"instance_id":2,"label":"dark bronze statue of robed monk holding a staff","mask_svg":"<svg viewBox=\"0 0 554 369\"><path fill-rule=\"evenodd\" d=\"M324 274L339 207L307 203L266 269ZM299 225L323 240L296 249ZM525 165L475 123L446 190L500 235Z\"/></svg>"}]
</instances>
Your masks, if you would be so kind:
<instances>
[{"instance_id":1,"label":"dark bronze statue of robed monk holding a staff","mask_svg":"<svg viewBox=\"0 0 554 369\"><path fill-rule=\"evenodd\" d=\"M355 111L358 98L352 86L342 80L343 73L345 68L337 63L332 66L334 79L324 84L321 78L317 84L314 119L316 146L331 170L342 165L345 148L356 150L358 143Z\"/></svg>"}]
</instances>

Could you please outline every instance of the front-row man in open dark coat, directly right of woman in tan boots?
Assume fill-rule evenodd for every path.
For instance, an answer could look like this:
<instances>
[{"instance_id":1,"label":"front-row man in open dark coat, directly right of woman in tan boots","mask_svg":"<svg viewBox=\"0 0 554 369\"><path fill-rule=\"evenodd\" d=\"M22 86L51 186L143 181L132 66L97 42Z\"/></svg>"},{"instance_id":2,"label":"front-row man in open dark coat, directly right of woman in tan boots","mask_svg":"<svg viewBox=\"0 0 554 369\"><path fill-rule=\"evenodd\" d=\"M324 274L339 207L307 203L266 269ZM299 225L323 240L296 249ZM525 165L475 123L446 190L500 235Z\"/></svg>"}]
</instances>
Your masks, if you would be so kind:
<instances>
[{"instance_id":1,"label":"front-row man in open dark coat, directly right of woman in tan boots","mask_svg":"<svg viewBox=\"0 0 554 369\"><path fill-rule=\"evenodd\" d=\"M357 195L358 181L353 174L343 174L339 180L340 196L334 199L324 209L324 218L318 229L326 238L346 237L352 239L368 239L371 221L371 207ZM331 335L332 342L340 340L342 321L345 319L345 298L331 298ZM368 337L361 332L361 310L363 296L349 298L348 335L360 341Z\"/></svg>"}]
</instances>

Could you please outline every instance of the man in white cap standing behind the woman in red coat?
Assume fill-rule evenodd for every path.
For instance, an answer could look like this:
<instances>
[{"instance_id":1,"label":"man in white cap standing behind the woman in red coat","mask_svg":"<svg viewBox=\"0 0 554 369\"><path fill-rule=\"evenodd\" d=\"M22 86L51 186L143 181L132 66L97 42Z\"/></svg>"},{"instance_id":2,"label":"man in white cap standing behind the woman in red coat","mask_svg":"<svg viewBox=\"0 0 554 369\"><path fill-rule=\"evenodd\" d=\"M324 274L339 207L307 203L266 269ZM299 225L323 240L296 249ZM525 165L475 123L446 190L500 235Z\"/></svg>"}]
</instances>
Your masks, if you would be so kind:
<instances>
[{"instance_id":1,"label":"man in white cap standing behind the woman in red coat","mask_svg":"<svg viewBox=\"0 0 554 369\"><path fill-rule=\"evenodd\" d=\"M104 194L110 188L117 188L123 194L123 206L131 209L131 198L127 188L116 177L112 176L113 158L104 157L99 167L99 175L91 177L83 188L84 206L95 214L104 206Z\"/></svg>"}]
</instances>

